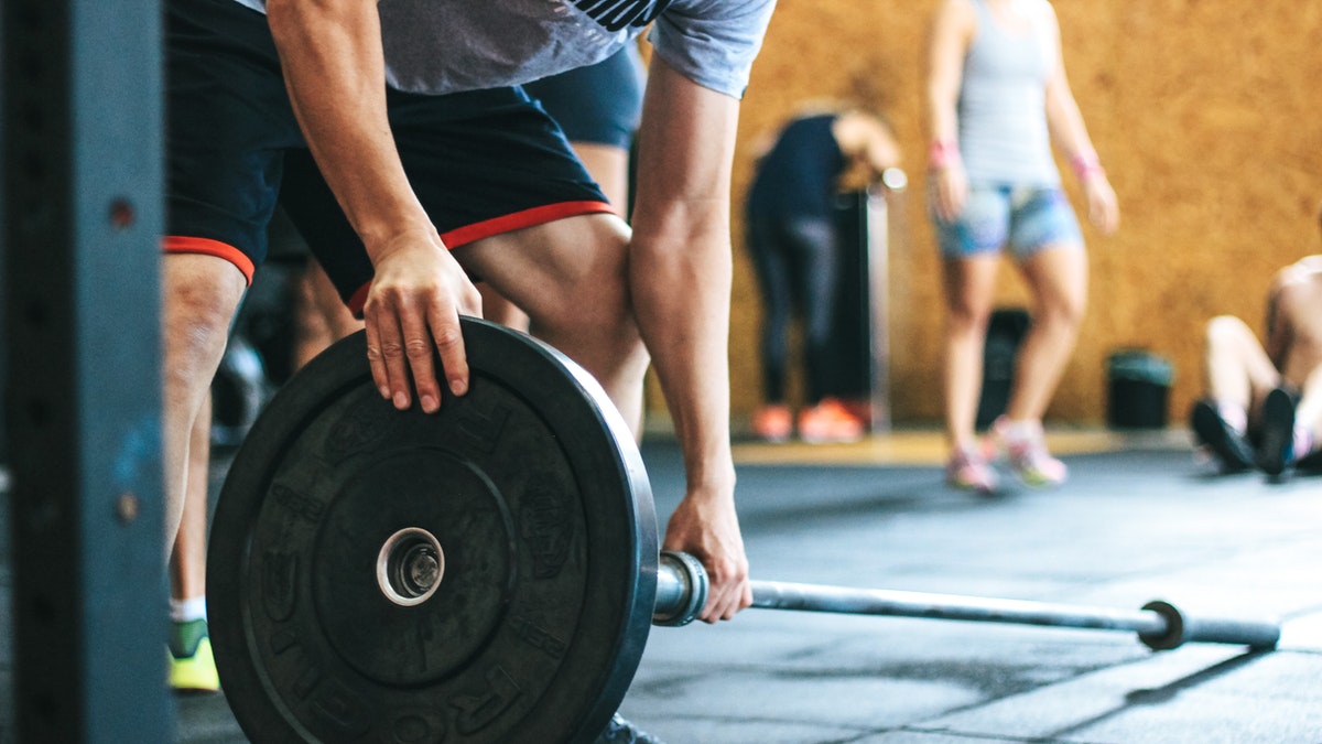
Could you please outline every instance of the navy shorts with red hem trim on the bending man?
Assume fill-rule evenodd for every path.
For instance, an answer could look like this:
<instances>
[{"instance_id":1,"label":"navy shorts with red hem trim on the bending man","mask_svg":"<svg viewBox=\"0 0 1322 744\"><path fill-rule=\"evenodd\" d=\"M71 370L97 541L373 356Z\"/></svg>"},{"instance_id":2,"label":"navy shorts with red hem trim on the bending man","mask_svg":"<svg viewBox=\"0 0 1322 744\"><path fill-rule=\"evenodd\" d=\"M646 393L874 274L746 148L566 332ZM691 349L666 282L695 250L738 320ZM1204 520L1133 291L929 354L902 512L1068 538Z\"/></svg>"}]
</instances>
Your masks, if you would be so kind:
<instances>
[{"instance_id":1,"label":"navy shorts with red hem trim on the bending man","mask_svg":"<svg viewBox=\"0 0 1322 744\"><path fill-rule=\"evenodd\" d=\"M167 252L233 262L251 281L279 201L361 312L373 267L308 152L266 16L234 0L169 0ZM395 146L449 248L611 212L557 123L518 87L387 91Z\"/></svg>"}]
</instances>

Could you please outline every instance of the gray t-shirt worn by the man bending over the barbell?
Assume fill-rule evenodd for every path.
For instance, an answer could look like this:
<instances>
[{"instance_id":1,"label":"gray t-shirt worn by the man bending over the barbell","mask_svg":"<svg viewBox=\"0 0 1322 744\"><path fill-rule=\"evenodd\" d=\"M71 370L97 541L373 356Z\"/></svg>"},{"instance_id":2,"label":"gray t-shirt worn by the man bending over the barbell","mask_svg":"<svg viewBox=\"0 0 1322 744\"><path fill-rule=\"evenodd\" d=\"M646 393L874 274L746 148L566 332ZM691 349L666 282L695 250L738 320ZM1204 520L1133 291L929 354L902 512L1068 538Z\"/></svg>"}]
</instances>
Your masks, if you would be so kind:
<instances>
[{"instance_id":1,"label":"gray t-shirt worn by the man bending over the barbell","mask_svg":"<svg viewBox=\"0 0 1322 744\"><path fill-rule=\"evenodd\" d=\"M237 0L263 11L264 0ZM742 98L776 0L381 0L387 82L411 93L518 85L599 62L653 24L656 54Z\"/></svg>"}]
</instances>

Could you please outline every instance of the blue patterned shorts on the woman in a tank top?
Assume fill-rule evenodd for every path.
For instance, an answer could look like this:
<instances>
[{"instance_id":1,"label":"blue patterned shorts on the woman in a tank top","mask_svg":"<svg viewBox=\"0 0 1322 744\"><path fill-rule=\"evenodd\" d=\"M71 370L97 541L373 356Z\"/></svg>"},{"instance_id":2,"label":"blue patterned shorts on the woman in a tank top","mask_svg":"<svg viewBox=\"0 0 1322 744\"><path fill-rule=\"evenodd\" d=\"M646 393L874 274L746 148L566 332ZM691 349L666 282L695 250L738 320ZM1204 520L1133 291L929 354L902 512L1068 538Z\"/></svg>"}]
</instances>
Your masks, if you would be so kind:
<instances>
[{"instance_id":1,"label":"blue patterned shorts on the woman in a tank top","mask_svg":"<svg viewBox=\"0 0 1322 744\"><path fill-rule=\"evenodd\" d=\"M1083 232L1059 187L970 184L964 212L932 218L941 256L961 258L1009 248L1017 261L1052 245L1083 246Z\"/></svg>"}]
</instances>

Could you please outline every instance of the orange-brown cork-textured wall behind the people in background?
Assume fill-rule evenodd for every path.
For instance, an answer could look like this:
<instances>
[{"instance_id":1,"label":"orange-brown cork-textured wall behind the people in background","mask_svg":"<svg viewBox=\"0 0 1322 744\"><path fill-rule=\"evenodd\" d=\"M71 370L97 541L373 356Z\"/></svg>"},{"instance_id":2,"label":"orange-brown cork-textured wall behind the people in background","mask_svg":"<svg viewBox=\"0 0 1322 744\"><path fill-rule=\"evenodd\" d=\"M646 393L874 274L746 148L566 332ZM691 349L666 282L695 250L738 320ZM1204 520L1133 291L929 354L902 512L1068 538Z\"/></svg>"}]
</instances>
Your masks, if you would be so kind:
<instances>
[{"instance_id":1,"label":"orange-brown cork-textured wall behind the people in background","mask_svg":"<svg viewBox=\"0 0 1322 744\"><path fill-rule=\"evenodd\" d=\"M891 209L894 418L940 420L943 310L924 199L923 106L936 7L937 0L780 1L744 98L735 160L736 417L760 402L761 318L740 216L751 143L806 101L862 94L892 119L910 175ZM1229 312L1260 328L1273 271L1322 252L1322 4L1060 0L1054 7L1071 86L1120 199L1121 229L1104 237L1084 226L1089 308L1047 418L1105 422L1108 355L1146 348L1174 363L1170 418L1181 424L1202 388L1206 319ZM1064 179L1077 208L1079 191L1072 176ZM1022 304L1026 297L1006 263L998 303Z\"/></svg>"}]
</instances>

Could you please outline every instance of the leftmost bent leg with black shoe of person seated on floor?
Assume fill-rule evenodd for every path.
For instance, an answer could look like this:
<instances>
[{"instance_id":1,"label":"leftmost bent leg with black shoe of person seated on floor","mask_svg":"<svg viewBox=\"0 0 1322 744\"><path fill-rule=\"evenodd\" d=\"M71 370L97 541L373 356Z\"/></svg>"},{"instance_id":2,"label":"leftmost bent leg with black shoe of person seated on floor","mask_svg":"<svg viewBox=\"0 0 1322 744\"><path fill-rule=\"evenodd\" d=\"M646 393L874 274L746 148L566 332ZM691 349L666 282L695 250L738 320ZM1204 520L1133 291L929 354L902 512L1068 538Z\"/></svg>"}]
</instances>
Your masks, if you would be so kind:
<instances>
[{"instance_id":1,"label":"leftmost bent leg with black shoe of person seated on floor","mask_svg":"<svg viewBox=\"0 0 1322 744\"><path fill-rule=\"evenodd\" d=\"M1200 447L1224 473L1253 467L1257 422L1266 393L1281 375L1263 344L1239 318L1218 315L1203 335L1204 397L1194 404L1190 426Z\"/></svg>"}]
</instances>

